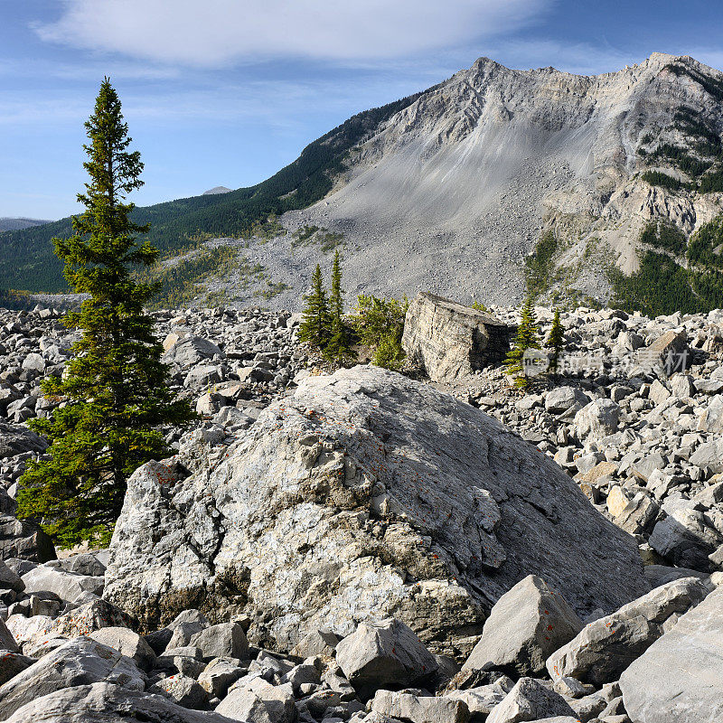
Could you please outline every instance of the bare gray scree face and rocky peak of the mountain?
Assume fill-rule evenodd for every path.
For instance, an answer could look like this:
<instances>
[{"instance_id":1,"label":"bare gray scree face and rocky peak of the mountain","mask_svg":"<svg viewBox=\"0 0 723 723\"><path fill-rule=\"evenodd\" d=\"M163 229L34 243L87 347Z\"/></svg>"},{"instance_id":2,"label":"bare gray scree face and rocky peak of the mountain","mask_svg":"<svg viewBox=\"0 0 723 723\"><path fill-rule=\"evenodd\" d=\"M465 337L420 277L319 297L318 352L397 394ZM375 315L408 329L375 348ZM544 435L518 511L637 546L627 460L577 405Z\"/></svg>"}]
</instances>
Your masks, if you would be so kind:
<instances>
[{"instance_id":1,"label":"bare gray scree face and rocky peak of the mountain","mask_svg":"<svg viewBox=\"0 0 723 723\"><path fill-rule=\"evenodd\" d=\"M715 177L721 89L718 70L662 53L594 77L483 58L391 117L353 149L334 192L282 222L343 233L354 291L428 288L487 304L520 300L525 258L552 230L549 276L563 290L607 299L606 266L638 269L648 221L689 235L721 211L717 183L671 188L643 175ZM699 164L683 163L685 174L681 158ZM258 258L297 287L321 255L317 246L305 264L274 265L270 257L289 247L279 239Z\"/></svg>"}]
</instances>

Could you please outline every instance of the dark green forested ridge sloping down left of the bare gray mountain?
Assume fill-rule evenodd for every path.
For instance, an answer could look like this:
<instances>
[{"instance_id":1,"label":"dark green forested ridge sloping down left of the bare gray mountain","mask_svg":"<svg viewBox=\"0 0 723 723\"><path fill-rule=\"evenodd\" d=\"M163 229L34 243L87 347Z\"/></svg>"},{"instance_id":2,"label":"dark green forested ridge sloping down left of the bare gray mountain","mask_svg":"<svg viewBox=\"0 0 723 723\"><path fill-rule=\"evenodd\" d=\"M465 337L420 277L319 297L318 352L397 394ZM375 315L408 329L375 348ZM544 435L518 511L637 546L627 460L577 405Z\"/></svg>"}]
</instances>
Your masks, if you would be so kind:
<instances>
[{"instance_id":1,"label":"dark green forested ridge sloping down left of the bare gray mountain","mask_svg":"<svg viewBox=\"0 0 723 723\"><path fill-rule=\"evenodd\" d=\"M343 174L351 149L418 97L409 96L349 118L306 146L296 161L258 185L137 208L133 219L151 224L147 238L162 253L188 248L199 237L249 234L254 224L266 221L270 214L302 209L324 198L334 180ZM53 254L51 239L70 233L70 219L0 233L0 288L65 291L62 264Z\"/></svg>"}]
</instances>

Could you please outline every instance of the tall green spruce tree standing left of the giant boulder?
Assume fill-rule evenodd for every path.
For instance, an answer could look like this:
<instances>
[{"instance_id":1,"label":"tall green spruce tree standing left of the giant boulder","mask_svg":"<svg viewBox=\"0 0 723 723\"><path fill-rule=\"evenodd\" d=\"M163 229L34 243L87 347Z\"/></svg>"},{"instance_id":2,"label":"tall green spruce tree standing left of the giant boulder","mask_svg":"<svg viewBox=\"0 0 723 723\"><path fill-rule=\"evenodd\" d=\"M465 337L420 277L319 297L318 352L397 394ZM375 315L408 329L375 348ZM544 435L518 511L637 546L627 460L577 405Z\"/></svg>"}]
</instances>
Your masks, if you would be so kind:
<instances>
[{"instance_id":1,"label":"tall green spruce tree standing left of the giant boulder","mask_svg":"<svg viewBox=\"0 0 723 723\"><path fill-rule=\"evenodd\" d=\"M39 520L61 547L107 544L127 477L168 454L160 427L195 417L168 387L163 346L144 311L156 287L136 283L131 273L152 264L158 251L136 241L147 227L129 217L134 204L125 199L143 184L143 164L127 150L131 138L108 78L85 127L90 181L78 194L85 211L73 219L70 239L53 241L70 286L89 298L66 318L82 332L74 357L61 379L42 383L45 397L61 404L51 418L32 423L51 442L50 458L28 465L18 500L19 516Z\"/></svg>"}]
</instances>

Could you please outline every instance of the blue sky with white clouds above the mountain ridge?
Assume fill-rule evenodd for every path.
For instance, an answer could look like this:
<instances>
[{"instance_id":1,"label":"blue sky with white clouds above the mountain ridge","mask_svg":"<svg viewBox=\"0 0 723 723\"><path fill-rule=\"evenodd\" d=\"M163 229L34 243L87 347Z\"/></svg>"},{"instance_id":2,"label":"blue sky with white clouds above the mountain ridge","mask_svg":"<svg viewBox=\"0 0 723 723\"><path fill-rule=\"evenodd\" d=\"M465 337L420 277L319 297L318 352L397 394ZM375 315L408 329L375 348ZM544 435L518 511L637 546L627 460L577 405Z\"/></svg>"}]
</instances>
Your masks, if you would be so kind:
<instances>
[{"instance_id":1,"label":"blue sky with white clouds above the mountain ridge","mask_svg":"<svg viewBox=\"0 0 723 723\"><path fill-rule=\"evenodd\" d=\"M486 55L618 70L723 68L719 0L0 0L0 216L76 212L83 121L116 86L139 205L258 183L354 113Z\"/></svg>"}]
</instances>

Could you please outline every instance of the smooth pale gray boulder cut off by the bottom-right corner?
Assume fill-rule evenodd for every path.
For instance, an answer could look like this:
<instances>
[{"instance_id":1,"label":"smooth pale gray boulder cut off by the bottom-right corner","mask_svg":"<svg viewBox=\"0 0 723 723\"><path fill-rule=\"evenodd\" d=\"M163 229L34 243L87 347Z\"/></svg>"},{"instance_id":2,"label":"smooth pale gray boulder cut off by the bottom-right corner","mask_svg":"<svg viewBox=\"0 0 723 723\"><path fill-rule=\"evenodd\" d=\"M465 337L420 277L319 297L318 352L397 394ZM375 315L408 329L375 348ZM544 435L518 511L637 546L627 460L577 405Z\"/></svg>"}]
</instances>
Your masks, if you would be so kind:
<instances>
[{"instance_id":1,"label":"smooth pale gray boulder cut off by the bottom-right corner","mask_svg":"<svg viewBox=\"0 0 723 723\"><path fill-rule=\"evenodd\" d=\"M723 587L634 661L620 688L634 723L723 720Z\"/></svg>"}]
</instances>

